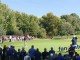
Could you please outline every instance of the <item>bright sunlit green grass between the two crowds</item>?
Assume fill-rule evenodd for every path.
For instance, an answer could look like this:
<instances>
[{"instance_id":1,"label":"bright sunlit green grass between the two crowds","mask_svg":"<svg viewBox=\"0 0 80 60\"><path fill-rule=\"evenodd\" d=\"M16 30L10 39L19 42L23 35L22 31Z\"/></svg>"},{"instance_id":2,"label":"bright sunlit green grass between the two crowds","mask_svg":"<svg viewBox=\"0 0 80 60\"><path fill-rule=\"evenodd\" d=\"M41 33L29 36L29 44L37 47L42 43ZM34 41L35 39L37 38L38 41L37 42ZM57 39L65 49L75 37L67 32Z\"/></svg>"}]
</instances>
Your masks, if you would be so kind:
<instances>
[{"instance_id":1,"label":"bright sunlit green grass between the two crowds","mask_svg":"<svg viewBox=\"0 0 80 60\"><path fill-rule=\"evenodd\" d=\"M26 51L29 50L29 48L31 47L31 45L34 45L35 49L39 48L40 51L42 52L44 50L44 48L47 48L47 50L49 51L51 47L54 48L54 50L56 51L56 53L58 53L59 51L59 46L61 47L69 47L71 44L71 39L34 39L34 40L28 40L26 43ZM78 44L80 44L80 41L78 40ZM22 48L24 46L24 41L15 41L15 42L4 42L3 44L0 42L1 46L7 45L14 45L16 50L18 48ZM80 51L78 50L78 52L80 53ZM63 53L63 52L62 52Z\"/></svg>"}]
</instances>

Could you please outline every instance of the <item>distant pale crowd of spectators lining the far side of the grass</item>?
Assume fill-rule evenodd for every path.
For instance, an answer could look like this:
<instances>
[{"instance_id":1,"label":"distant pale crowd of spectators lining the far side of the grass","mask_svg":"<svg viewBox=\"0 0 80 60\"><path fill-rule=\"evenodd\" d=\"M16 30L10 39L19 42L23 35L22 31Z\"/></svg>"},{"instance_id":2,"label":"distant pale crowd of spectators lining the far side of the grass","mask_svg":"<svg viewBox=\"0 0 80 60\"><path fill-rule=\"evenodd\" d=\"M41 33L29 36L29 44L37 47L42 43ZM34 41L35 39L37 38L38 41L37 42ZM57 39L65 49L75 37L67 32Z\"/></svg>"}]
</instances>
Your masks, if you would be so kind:
<instances>
[{"instance_id":1,"label":"distant pale crowd of spectators lining the far side of the grass","mask_svg":"<svg viewBox=\"0 0 80 60\"><path fill-rule=\"evenodd\" d=\"M20 41L20 40L32 40L34 37L32 36L14 36L14 35L8 35L8 36L0 36L0 41L4 43L5 41L14 42L14 41Z\"/></svg>"}]
</instances>

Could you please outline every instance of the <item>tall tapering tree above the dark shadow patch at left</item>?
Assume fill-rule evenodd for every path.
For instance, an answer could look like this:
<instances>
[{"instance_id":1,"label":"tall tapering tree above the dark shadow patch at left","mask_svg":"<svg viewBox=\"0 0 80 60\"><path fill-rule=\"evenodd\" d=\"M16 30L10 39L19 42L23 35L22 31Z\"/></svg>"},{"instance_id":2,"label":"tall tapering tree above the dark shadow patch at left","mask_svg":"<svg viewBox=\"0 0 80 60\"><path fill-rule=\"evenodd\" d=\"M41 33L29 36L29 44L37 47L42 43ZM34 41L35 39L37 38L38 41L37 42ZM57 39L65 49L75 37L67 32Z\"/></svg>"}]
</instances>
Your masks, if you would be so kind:
<instances>
[{"instance_id":1,"label":"tall tapering tree above the dark shadow patch at left","mask_svg":"<svg viewBox=\"0 0 80 60\"><path fill-rule=\"evenodd\" d=\"M7 35L14 35L18 31L16 18L15 18L15 12L12 10L10 11L9 17L6 20L7 23Z\"/></svg>"}]
</instances>

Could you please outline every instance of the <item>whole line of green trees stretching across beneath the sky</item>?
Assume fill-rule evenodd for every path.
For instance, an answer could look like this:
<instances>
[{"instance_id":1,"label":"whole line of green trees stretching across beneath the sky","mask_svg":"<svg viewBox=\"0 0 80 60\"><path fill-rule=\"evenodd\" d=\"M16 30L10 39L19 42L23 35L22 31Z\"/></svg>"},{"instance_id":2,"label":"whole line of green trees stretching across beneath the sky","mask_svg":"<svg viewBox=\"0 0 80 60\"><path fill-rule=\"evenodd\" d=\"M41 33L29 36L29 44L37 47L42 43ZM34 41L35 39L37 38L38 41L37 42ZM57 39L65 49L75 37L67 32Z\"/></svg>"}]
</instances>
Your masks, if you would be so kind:
<instances>
[{"instance_id":1,"label":"whole line of green trees stretching across beneath the sky","mask_svg":"<svg viewBox=\"0 0 80 60\"><path fill-rule=\"evenodd\" d=\"M52 12L38 18L10 9L0 2L0 35L25 35L39 38L80 34L80 17L76 13L57 17Z\"/></svg>"}]
</instances>

